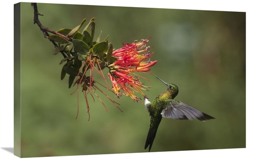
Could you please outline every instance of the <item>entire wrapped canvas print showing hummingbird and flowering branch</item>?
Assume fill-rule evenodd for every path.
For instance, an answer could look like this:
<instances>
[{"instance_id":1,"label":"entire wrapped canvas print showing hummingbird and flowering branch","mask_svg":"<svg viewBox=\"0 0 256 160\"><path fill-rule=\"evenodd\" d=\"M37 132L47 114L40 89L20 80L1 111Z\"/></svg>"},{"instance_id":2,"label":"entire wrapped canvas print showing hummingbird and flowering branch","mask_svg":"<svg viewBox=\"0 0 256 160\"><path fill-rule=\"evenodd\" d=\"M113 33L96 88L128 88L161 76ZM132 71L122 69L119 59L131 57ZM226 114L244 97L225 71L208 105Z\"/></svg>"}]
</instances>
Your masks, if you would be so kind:
<instances>
[{"instance_id":1,"label":"entire wrapped canvas print showing hummingbird and flowering branch","mask_svg":"<svg viewBox=\"0 0 256 160\"><path fill-rule=\"evenodd\" d=\"M245 148L245 12L14 5L14 154Z\"/></svg>"}]
</instances>

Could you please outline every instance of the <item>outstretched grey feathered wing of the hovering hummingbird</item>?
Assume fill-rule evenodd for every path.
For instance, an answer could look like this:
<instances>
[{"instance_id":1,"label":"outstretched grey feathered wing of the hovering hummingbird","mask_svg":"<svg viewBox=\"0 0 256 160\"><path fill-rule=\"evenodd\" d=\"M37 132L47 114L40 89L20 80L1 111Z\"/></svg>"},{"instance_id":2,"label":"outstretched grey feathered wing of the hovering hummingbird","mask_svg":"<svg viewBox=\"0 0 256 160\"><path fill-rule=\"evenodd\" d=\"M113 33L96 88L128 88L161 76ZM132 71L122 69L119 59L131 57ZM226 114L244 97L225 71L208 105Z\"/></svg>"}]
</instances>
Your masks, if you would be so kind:
<instances>
[{"instance_id":1,"label":"outstretched grey feathered wing of the hovering hummingbird","mask_svg":"<svg viewBox=\"0 0 256 160\"><path fill-rule=\"evenodd\" d=\"M161 115L164 118L171 118L177 120L194 120L200 121L215 119L205 113L201 112L197 108L189 106L185 103L175 100L166 100L165 108L162 110Z\"/></svg>"}]
</instances>

